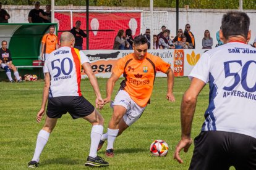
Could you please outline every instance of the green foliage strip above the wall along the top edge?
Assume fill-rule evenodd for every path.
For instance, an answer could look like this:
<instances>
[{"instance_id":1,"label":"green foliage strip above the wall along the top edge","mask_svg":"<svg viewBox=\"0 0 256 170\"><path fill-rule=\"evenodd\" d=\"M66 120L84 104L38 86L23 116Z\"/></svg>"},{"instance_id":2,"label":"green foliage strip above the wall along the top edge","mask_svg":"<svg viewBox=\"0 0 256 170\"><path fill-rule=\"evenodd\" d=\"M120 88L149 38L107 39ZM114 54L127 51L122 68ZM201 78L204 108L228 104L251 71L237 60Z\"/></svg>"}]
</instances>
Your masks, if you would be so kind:
<instances>
[{"instance_id":1,"label":"green foliage strip above the wall along the top edge","mask_svg":"<svg viewBox=\"0 0 256 170\"><path fill-rule=\"evenodd\" d=\"M36 0L2 0L2 4L33 5ZM42 5L51 0L41 0ZM176 7L176 0L153 0L154 7ZM85 6L86 0L55 0L56 6ZM89 0L90 6L150 7L150 0ZM239 9L239 0L179 0L179 7L192 9ZM243 9L256 9L256 0L244 0Z\"/></svg>"}]
</instances>

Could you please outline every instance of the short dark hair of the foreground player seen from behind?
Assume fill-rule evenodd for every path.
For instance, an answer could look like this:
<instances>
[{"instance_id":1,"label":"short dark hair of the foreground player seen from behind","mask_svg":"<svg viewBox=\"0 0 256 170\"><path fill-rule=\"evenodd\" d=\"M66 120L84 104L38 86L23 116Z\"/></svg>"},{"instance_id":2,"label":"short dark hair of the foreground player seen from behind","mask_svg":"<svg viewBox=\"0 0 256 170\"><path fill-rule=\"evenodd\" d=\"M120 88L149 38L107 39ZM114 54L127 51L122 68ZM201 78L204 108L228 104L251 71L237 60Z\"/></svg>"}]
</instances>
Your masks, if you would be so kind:
<instances>
[{"instance_id":1,"label":"short dark hair of the foreground player seen from behind","mask_svg":"<svg viewBox=\"0 0 256 170\"><path fill-rule=\"evenodd\" d=\"M231 11L223 15L221 31L225 39L230 36L241 35L247 38L250 27L250 18L245 12Z\"/></svg>"}]
</instances>

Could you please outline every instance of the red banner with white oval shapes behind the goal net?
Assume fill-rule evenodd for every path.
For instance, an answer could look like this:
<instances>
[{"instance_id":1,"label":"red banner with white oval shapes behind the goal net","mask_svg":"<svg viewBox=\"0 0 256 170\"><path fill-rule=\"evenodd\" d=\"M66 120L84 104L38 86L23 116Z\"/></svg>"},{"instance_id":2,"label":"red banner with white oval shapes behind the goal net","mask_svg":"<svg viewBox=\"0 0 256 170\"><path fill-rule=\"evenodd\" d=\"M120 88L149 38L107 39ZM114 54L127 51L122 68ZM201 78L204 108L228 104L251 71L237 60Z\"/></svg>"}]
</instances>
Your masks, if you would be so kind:
<instances>
[{"instance_id":1,"label":"red banner with white oval shapes behind the goal net","mask_svg":"<svg viewBox=\"0 0 256 170\"><path fill-rule=\"evenodd\" d=\"M59 36L62 31L70 31L70 12L55 12L56 21L59 23ZM81 29L86 30L86 13L73 12L72 26L80 20ZM118 30L132 30L132 36L140 34L140 12L133 13L90 13L89 49L113 49L114 38ZM86 49L86 38L83 38L83 49Z\"/></svg>"}]
</instances>

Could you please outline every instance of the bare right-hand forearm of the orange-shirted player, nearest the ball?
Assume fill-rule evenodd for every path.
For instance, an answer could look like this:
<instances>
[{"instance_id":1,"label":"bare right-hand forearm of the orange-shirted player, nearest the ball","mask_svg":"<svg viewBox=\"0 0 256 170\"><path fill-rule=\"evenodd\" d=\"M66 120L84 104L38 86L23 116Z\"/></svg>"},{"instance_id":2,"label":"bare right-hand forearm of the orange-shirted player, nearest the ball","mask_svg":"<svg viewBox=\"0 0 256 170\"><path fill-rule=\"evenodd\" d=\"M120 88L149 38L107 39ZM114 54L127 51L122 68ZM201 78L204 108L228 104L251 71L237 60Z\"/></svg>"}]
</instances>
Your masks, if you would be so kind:
<instances>
[{"instance_id":1,"label":"bare right-hand forearm of the orange-shirted player, nearest the ball","mask_svg":"<svg viewBox=\"0 0 256 170\"><path fill-rule=\"evenodd\" d=\"M169 68L166 71L166 75L167 75L167 83L168 83L168 91L166 94L166 99L169 100L169 102L175 102L175 97L173 95L173 84L174 84L173 70Z\"/></svg>"}]
</instances>

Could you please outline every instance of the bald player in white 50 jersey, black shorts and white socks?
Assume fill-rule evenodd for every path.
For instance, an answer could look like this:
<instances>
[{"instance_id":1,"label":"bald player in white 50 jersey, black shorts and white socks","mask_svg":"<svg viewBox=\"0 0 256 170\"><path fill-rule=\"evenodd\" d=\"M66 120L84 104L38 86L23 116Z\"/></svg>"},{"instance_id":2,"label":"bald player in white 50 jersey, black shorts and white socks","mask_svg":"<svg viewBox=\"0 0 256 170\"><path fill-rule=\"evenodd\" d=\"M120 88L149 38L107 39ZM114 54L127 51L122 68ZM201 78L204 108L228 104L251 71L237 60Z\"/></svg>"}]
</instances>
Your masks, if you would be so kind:
<instances>
[{"instance_id":1,"label":"bald player in white 50 jersey, black shorts and white socks","mask_svg":"<svg viewBox=\"0 0 256 170\"><path fill-rule=\"evenodd\" d=\"M78 49L73 48L75 38L69 32L61 34L61 48L51 53L43 67L45 73L45 86L41 109L38 111L36 121L40 123L45 115L43 128L36 140L35 153L28 168L38 167L41 152L48 142L49 136L62 115L69 112L73 119L83 118L92 124L91 147L85 166L108 166L108 162L97 156L97 147L103 133L104 119L95 107L86 100L80 91L81 70L85 70L96 95L96 108L103 108L97 79L90 66L90 60ZM66 51L65 53L63 51ZM69 71L65 71L69 70ZM47 110L45 111L48 100ZM83 142L83 141L82 141Z\"/></svg>"}]
</instances>

